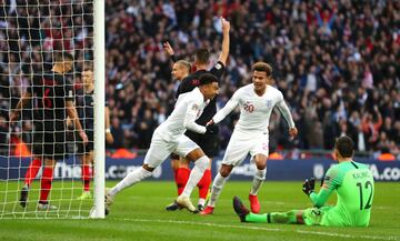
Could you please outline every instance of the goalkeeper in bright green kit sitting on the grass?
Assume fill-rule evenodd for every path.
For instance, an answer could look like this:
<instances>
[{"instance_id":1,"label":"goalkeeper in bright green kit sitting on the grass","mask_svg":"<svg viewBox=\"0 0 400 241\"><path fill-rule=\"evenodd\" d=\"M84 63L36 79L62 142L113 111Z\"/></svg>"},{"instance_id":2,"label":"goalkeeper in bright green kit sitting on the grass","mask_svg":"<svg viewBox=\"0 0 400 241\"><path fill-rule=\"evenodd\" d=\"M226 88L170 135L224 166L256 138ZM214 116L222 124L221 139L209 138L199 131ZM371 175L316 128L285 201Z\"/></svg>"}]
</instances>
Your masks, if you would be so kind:
<instances>
[{"instance_id":1,"label":"goalkeeper in bright green kit sitting on the grass","mask_svg":"<svg viewBox=\"0 0 400 241\"><path fill-rule=\"evenodd\" d=\"M242 222L299 223L307 225L368 227L373 200L373 177L366 164L352 160L354 143L349 137L336 141L334 154L339 164L326 173L320 191L314 192L314 179L303 183L303 192L314 208L289 212L251 213L238 197L233 209ZM334 207L324 205L337 191Z\"/></svg>"}]
</instances>

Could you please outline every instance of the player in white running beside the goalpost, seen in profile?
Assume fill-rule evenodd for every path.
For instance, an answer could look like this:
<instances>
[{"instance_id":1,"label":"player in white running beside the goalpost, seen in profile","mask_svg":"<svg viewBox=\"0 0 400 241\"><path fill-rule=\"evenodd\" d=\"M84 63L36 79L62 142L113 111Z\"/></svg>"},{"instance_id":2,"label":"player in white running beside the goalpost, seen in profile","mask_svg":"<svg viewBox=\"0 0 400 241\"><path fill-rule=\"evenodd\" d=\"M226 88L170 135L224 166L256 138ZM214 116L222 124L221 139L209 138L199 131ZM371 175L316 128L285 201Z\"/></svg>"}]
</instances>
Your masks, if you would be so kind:
<instances>
[{"instance_id":1,"label":"player in white running beside the goalpost, seen in profile","mask_svg":"<svg viewBox=\"0 0 400 241\"><path fill-rule=\"evenodd\" d=\"M212 131L194 121L200 117L210 100L218 93L217 77L206 73L200 77L199 81L199 88L194 88L192 91L179 96L172 113L154 130L143 165L130 172L111 190L106 191L106 213L109 212L109 208L117 193L149 178L152 171L172 152L194 162L194 168L190 173L188 183L182 193L177 198L177 202L191 212L197 211L190 201L190 194L203 175L209 163L209 158L198 144L184 135L184 131L192 130L197 133L209 133Z\"/></svg>"}]
</instances>

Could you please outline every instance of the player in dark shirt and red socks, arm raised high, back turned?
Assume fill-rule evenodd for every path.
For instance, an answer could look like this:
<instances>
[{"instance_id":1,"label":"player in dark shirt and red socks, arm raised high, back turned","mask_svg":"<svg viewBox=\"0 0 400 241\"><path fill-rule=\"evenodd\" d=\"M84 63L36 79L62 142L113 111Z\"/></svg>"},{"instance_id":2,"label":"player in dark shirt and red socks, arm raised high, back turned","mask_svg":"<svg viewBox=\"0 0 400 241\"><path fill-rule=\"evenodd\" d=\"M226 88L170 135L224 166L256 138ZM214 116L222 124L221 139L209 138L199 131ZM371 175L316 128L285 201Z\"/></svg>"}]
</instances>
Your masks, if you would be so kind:
<instances>
[{"instance_id":1,"label":"player in dark shirt and red socks, arm raised high, back turned","mask_svg":"<svg viewBox=\"0 0 400 241\"><path fill-rule=\"evenodd\" d=\"M221 26L222 26L222 51L218 59L218 62L210 70L208 70L208 67L210 64L210 52L207 49L197 50L194 54L194 66L197 71L189 74L181 81L177 90L177 98L180 94L189 92L193 90L197 86L199 86L200 76L204 73L212 73L217 78L221 78L221 76L223 74L227 59L229 56L230 22L221 18ZM164 49L169 54L173 53L168 42L164 43ZM199 117L199 119L196 122L198 124L206 125L206 123L216 114L216 112L217 112L217 100L213 99L204 108L202 114ZM209 187L211 184L211 179L212 179L211 159L216 154L218 154L218 129L217 127L212 127L212 128L214 128L212 133L199 134L191 130L188 130L184 133L204 151L207 157L210 158L209 167L207 168L199 183L197 183L199 187L199 202L198 202L199 210L202 210L206 204L206 198L209 192ZM188 182L189 175L190 175L190 169L188 161L184 160L184 158L182 158L176 174L178 194L180 194L183 191L186 183ZM174 211L179 208L181 207L179 207L178 203L174 201L173 203L169 204L166 209L169 211Z\"/></svg>"}]
</instances>

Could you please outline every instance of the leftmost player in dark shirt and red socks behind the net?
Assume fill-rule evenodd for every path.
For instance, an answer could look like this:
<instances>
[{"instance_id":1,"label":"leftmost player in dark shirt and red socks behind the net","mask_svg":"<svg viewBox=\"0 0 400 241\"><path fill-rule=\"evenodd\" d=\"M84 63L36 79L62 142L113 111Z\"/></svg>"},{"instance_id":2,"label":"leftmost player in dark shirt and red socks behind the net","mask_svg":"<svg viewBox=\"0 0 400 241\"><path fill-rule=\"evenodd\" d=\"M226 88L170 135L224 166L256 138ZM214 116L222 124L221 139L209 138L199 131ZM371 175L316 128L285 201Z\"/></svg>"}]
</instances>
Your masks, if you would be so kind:
<instances>
[{"instance_id":1,"label":"leftmost player in dark shirt and red socks behind the net","mask_svg":"<svg viewBox=\"0 0 400 241\"><path fill-rule=\"evenodd\" d=\"M27 205L28 191L43 161L44 169L40 182L38 209L57 210L57 207L49 204L48 195L53 179L56 160L64 159L67 155L67 116L73 120L79 137L84 143L88 142L88 137L80 124L73 106L73 84L66 76L72 66L72 54L68 52L57 54L51 72L34 73L31 86L18 102L16 110L10 113L10 122L12 122L18 119L28 102L34 107L32 139L34 159L27 170L24 185L21 190L20 204L22 208Z\"/></svg>"}]
</instances>

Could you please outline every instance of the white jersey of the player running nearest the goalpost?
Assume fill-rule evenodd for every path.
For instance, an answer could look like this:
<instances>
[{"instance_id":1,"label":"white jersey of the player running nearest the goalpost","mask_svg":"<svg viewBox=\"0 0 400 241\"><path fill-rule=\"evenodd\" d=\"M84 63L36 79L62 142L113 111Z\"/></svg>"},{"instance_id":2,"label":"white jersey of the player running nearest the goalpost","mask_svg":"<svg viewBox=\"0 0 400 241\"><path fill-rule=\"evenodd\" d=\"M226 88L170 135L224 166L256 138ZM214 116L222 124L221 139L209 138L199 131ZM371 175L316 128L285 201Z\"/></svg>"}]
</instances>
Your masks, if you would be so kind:
<instances>
[{"instance_id":1,"label":"white jersey of the player running nearest the goalpost","mask_svg":"<svg viewBox=\"0 0 400 241\"><path fill-rule=\"evenodd\" d=\"M194 121L201 116L204 107L210 101L204 101L199 88L179 94L172 113L161 123L154 132L158 132L164 140L172 141L183 134L187 129L204 133L206 127L197 124Z\"/></svg>"}]
</instances>

